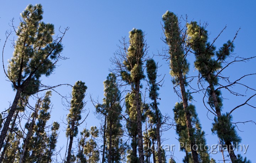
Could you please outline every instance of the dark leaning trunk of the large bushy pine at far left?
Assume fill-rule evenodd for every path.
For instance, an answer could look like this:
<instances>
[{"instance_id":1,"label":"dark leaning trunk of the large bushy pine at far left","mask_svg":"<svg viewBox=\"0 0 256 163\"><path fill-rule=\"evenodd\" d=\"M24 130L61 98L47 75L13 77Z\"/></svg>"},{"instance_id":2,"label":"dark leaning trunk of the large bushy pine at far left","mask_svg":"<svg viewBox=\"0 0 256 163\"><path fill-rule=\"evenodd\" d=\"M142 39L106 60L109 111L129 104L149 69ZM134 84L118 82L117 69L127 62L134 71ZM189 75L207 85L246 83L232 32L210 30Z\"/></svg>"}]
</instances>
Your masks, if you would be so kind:
<instances>
[{"instance_id":1,"label":"dark leaning trunk of the large bushy pine at far left","mask_svg":"<svg viewBox=\"0 0 256 163\"><path fill-rule=\"evenodd\" d=\"M4 140L7 135L7 131L8 131L9 125L11 123L12 116L14 115L15 109L18 105L18 100L20 99L20 95L21 95L21 90L17 89L14 101L12 102L12 106L9 110L8 116L6 117L4 126L3 126L1 134L0 134L0 149L2 149L2 146L4 145Z\"/></svg>"}]
</instances>

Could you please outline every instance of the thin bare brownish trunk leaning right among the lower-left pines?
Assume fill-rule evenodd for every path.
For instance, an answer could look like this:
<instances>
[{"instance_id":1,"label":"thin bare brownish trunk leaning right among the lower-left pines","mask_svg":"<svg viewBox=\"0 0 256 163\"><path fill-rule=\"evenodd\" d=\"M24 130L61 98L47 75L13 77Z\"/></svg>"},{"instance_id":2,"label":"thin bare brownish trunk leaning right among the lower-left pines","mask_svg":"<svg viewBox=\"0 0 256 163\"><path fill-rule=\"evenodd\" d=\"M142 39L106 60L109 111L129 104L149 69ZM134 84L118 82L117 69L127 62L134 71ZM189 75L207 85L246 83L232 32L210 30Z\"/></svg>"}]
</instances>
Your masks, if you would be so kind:
<instances>
[{"instance_id":1,"label":"thin bare brownish trunk leaning right among the lower-left pines","mask_svg":"<svg viewBox=\"0 0 256 163\"><path fill-rule=\"evenodd\" d=\"M25 159L26 159L25 158L25 153L27 152L27 145L30 142L30 139L31 139L32 134L33 134L33 129L34 129L34 124L35 124L36 117L37 117L38 107L39 107L39 100L38 100L37 106L35 108L35 112L34 112L32 121L30 123L30 128L28 130L28 134L27 134L26 139L25 139L24 144L23 144L23 149L22 149L22 153L21 153L19 163L24 163L25 162Z\"/></svg>"}]
</instances>

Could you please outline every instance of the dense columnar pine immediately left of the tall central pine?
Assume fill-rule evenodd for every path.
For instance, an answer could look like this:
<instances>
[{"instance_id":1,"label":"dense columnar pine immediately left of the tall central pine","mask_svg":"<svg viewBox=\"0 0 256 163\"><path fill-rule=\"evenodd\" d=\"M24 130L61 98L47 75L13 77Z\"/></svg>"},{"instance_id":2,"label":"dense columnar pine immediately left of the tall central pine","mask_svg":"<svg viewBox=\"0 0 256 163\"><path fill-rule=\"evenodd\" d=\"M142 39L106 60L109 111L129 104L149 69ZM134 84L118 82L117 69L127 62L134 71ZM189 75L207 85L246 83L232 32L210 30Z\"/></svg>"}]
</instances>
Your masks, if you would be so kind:
<instances>
[{"instance_id":1,"label":"dense columnar pine immediately left of the tall central pine","mask_svg":"<svg viewBox=\"0 0 256 163\"><path fill-rule=\"evenodd\" d=\"M108 74L107 80L104 83L104 98L103 104L96 106L96 111L103 114L105 117L103 131L103 154L102 162L105 161L106 146L106 161L108 163L119 162L121 160L120 145L122 145L122 124L120 106L121 93L118 89L116 76L113 73Z\"/></svg>"}]
</instances>

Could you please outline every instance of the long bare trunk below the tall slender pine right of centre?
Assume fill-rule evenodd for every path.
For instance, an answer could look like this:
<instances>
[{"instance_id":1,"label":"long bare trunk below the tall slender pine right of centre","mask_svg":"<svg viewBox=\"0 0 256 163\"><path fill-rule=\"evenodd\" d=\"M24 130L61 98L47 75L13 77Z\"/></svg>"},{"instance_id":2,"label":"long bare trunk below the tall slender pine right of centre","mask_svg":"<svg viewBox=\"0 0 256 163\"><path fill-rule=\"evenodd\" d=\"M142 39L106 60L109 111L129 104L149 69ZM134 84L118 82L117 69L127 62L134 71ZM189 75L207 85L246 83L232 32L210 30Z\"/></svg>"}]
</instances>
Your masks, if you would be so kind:
<instances>
[{"instance_id":1,"label":"long bare trunk below the tall slender pine right of centre","mask_svg":"<svg viewBox=\"0 0 256 163\"><path fill-rule=\"evenodd\" d=\"M190 140L190 145L191 145L192 158L194 163L199 163L197 149L194 149L196 142L194 140L194 136L193 136L194 134L192 133L193 127L192 127L191 118L190 118L191 115L190 115L190 112L187 110L188 99L187 99L186 90L185 90L185 81L181 71L179 72L179 79L180 79L181 96L183 101L183 109L186 117L187 133L188 133L188 138Z\"/></svg>"}]
</instances>

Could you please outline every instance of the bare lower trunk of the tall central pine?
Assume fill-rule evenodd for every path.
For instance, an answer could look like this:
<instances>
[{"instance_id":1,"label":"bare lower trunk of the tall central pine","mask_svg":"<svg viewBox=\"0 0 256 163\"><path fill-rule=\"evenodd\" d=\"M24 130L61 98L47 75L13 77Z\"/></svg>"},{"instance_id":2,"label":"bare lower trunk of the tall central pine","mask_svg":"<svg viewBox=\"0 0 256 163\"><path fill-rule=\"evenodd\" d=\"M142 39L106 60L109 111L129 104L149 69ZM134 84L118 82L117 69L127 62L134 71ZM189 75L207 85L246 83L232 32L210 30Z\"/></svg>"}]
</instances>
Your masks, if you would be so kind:
<instances>
[{"instance_id":1,"label":"bare lower trunk of the tall central pine","mask_svg":"<svg viewBox=\"0 0 256 163\"><path fill-rule=\"evenodd\" d=\"M139 163L144 163L143 135L142 135L142 113L141 101L139 97L140 82L135 85L135 102L137 110L137 127L138 127L138 147L139 147Z\"/></svg>"}]
</instances>

